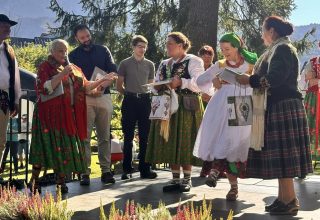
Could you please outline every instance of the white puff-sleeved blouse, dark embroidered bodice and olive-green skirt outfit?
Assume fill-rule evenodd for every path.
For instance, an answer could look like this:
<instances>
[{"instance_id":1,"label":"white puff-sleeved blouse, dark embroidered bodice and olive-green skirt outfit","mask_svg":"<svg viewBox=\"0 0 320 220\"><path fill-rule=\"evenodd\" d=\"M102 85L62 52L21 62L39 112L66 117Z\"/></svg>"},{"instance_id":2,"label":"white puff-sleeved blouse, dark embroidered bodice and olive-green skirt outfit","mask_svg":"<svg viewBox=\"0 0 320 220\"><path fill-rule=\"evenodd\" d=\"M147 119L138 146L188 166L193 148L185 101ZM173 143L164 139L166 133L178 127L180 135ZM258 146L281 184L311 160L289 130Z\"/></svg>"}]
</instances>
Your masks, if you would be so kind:
<instances>
[{"instance_id":1,"label":"white puff-sleeved blouse, dark embroidered bodice and olive-green skirt outfit","mask_svg":"<svg viewBox=\"0 0 320 220\"><path fill-rule=\"evenodd\" d=\"M161 122L159 120L151 122L146 161L180 165L199 164L200 161L192 152L203 115L203 105L196 85L196 79L203 71L203 61L192 54L187 54L178 62L167 59L160 64L156 81L176 75L182 80L181 88L176 89L179 108L171 115L168 141L160 135ZM188 97L194 100L194 109L187 109L188 106L184 104L183 100L186 102Z\"/></svg>"}]
</instances>

